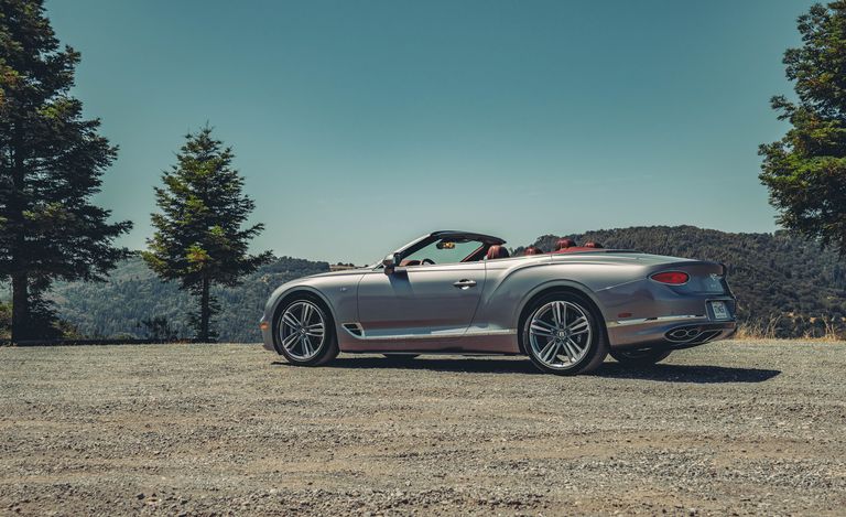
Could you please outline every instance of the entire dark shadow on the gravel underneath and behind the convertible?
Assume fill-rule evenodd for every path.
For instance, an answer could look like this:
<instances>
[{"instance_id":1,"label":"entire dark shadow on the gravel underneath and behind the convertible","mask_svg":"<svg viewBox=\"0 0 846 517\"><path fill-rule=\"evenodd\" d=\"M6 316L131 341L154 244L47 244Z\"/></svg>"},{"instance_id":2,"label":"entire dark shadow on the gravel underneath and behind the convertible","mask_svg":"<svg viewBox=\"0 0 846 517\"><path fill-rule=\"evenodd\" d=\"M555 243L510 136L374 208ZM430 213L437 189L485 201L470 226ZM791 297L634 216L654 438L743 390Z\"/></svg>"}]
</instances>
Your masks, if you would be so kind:
<instances>
[{"instance_id":1,"label":"entire dark shadow on the gravel underneath and behind the convertible","mask_svg":"<svg viewBox=\"0 0 846 517\"><path fill-rule=\"evenodd\" d=\"M274 366L291 366L283 360L273 362ZM432 371L481 373L481 374L525 374L545 375L539 371L529 359L502 360L487 357L417 357L395 359L387 357L341 356L323 368L346 369L410 369ZM734 368L709 365L654 365L650 367L623 366L616 362L606 362L592 375L596 377L643 379L665 383L763 383L781 374L776 369Z\"/></svg>"}]
</instances>

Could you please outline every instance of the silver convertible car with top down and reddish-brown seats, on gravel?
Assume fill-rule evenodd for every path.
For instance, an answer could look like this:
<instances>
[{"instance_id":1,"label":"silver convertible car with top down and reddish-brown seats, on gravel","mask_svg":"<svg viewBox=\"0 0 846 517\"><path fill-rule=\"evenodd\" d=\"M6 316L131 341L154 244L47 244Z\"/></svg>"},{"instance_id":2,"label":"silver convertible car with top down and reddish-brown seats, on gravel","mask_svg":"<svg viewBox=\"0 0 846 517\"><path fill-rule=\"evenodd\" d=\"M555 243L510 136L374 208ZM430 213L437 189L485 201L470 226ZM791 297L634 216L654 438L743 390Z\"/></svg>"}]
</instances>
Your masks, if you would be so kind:
<instances>
[{"instance_id":1,"label":"silver convertible car with top down and reddish-brown seats, on gravel","mask_svg":"<svg viewBox=\"0 0 846 517\"><path fill-rule=\"evenodd\" d=\"M648 365L735 332L722 263L568 239L509 257L503 245L434 231L373 266L288 282L264 308L264 346L308 366L339 352L523 354L543 371L571 375L609 353Z\"/></svg>"}]
</instances>

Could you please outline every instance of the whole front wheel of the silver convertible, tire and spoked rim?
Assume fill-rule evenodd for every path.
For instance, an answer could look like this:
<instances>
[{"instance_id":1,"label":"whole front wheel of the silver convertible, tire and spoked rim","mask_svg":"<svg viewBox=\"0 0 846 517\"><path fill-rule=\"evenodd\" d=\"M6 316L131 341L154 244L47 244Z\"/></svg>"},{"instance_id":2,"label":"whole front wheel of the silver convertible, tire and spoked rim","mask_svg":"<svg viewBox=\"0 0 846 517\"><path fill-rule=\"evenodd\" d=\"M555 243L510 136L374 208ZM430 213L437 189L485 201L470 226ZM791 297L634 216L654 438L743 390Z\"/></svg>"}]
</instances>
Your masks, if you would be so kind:
<instances>
[{"instance_id":1,"label":"whole front wheel of the silver convertible, tire and spoked rim","mask_svg":"<svg viewBox=\"0 0 846 517\"><path fill-rule=\"evenodd\" d=\"M316 297L302 294L286 300L273 319L273 344L292 365L330 362L338 355L332 313Z\"/></svg>"}]
</instances>

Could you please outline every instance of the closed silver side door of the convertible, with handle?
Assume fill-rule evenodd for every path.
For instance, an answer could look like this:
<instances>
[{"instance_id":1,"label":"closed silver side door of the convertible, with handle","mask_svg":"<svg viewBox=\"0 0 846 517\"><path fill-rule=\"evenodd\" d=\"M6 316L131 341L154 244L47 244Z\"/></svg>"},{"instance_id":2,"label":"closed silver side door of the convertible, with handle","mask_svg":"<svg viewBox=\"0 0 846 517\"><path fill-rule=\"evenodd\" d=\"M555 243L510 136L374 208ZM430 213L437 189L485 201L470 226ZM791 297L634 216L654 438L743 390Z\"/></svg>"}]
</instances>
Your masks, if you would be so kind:
<instances>
[{"instance_id":1,"label":"closed silver side door of the convertible, with handle","mask_svg":"<svg viewBox=\"0 0 846 517\"><path fill-rule=\"evenodd\" d=\"M372 271L358 287L359 323L368 340L415 349L443 347L467 330L484 287L484 262Z\"/></svg>"}]
</instances>

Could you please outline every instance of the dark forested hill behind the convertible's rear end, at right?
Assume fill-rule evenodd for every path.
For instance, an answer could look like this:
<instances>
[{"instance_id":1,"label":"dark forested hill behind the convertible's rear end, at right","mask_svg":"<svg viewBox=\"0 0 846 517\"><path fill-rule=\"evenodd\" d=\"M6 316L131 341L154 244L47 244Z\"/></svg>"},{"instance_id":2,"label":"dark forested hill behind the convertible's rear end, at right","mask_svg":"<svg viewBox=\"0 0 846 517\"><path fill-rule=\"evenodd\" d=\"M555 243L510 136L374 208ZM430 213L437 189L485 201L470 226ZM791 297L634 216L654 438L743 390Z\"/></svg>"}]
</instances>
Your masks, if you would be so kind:
<instances>
[{"instance_id":1,"label":"dark forested hill behind the convertible's rear end, at right","mask_svg":"<svg viewBox=\"0 0 846 517\"><path fill-rule=\"evenodd\" d=\"M565 235L606 248L716 260L728 266L742 321L772 326L781 337L821 334L825 321L844 328L846 261L814 243L787 233L727 234L695 226L649 226ZM558 236L544 235L534 246L549 251ZM519 252L518 248L516 252Z\"/></svg>"}]
</instances>

